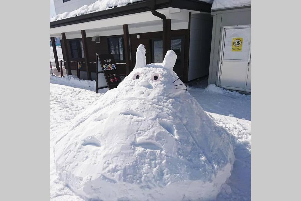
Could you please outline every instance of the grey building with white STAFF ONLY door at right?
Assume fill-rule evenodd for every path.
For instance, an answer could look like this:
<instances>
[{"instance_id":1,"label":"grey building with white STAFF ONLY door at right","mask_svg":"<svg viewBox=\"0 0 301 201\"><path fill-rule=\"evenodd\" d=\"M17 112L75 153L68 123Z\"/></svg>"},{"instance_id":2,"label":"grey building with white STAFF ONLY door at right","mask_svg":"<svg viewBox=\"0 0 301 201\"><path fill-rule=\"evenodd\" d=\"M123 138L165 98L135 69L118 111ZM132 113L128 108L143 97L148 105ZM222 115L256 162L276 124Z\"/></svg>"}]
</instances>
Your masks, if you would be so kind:
<instances>
[{"instance_id":1,"label":"grey building with white STAFF ONLY door at right","mask_svg":"<svg viewBox=\"0 0 301 201\"><path fill-rule=\"evenodd\" d=\"M251 92L251 1L214 8L208 84ZM231 7L229 7L231 6Z\"/></svg>"}]
</instances>

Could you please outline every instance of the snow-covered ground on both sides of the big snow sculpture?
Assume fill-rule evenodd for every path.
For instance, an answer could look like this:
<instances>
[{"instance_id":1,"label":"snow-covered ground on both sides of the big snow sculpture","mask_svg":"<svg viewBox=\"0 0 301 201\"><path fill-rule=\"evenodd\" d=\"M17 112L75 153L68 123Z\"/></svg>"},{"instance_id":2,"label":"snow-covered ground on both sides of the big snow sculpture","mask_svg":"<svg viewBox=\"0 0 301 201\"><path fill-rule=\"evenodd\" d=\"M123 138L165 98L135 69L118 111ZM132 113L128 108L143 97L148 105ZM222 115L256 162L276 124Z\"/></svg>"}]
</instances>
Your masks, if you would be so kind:
<instances>
[{"instance_id":1,"label":"snow-covered ground on both sides of the big snow sculpture","mask_svg":"<svg viewBox=\"0 0 301 201\"><path fill-rule=\"evenodd\" d=\"M236 157L231 177L222 185L217 200L251 200L251 95L214 85L205 89L206 82L190 86L188 91L216 124L231 133ZM70 121L107 91L102 89L96 94L92 91L93 84L93 81L81 82L74 77L51 78L51 200L83 200L57 176L52 147L67 131Z\"/></svg>"}]
</instances>

